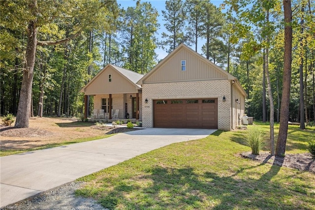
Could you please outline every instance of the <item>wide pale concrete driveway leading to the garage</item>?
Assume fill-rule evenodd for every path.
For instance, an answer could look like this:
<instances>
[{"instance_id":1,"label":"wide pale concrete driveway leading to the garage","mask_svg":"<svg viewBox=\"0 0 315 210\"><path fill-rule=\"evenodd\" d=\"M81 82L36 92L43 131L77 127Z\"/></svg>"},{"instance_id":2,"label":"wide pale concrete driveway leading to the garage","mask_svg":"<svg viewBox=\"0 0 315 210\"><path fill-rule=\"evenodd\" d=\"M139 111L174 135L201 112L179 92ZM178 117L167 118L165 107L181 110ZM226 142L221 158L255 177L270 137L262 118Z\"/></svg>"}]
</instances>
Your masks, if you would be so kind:
<instances>
[{"instance_id":1,"label":"wide pale concrete driveway leading to the garage","mask_svg":"<svg viewBox=\"0 0 315 210\"><path fill-rule=\"evenodd\" d=\"M107 139L0 157L0 207L22 201L137 155L216 130L142 129Z\"/></svg>"}]
</instances>

